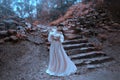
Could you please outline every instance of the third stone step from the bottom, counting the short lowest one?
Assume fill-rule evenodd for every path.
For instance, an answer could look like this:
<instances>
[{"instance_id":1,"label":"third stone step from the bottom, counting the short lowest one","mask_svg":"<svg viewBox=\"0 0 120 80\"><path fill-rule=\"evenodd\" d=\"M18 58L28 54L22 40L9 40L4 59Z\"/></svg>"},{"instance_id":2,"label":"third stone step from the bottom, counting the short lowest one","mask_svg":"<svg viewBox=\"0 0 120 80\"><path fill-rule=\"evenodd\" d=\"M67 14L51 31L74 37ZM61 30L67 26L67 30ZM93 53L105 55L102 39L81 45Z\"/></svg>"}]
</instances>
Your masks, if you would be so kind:
<instances>
[{"instance_id":1,"label":"third stone step from the bottom, counting the short lowest one","mask_svg":"<svg viewBox=\"0 0 120 80\"><path fill-rule=\"evenodd\" d=\"M107 56L107 55L104 54L104 52L102 51L92 51L88 53L80 53L80 54L71 55L70 58L74 60L74 59L94 58L94 57L100 57L100 56Z\"/></svg>"}]
</instances>

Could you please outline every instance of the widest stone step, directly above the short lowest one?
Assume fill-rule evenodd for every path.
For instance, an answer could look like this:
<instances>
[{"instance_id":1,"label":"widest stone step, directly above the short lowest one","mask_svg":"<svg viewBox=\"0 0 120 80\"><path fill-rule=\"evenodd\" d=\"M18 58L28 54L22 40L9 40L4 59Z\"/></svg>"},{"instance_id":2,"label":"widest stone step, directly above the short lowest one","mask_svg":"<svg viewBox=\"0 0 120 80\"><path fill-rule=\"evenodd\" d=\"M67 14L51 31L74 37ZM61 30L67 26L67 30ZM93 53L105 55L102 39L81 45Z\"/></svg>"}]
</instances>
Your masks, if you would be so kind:
<instances>
[{"instance_id":1,"label":"widest stone step, directly above the short lowest one","mask_svg":"<svg viewBox=\"0 0 120 80\"><path fill-rule=\"evenodd\" d=\"M101 64L105 62L112 61L113 58L104 56L104 57L97 57L97 58L90 58L90 59L78 59L73 60L76 66L88 65L88 64Z\"/></svg>"}]
</instances>

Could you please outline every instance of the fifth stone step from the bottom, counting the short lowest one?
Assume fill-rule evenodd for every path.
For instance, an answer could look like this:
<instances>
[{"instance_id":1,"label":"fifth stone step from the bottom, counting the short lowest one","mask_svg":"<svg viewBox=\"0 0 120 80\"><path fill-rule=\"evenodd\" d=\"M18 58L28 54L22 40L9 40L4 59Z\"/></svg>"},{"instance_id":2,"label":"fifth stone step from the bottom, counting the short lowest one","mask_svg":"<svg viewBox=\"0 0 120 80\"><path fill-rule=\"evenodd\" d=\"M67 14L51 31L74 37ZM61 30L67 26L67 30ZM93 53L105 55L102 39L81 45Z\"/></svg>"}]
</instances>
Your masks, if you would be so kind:
<instances>
[{"instance_id":1,"label":"fifth stone step from the bottom, counting the short lowest one","mask_svg":"<svg viewBox=\"0 0 120 80\"><path fill-rule=\"evenodd\" d=\"M71 50L82 47L94 47L94 44L92 43L69 44L69 45L63 45L63 47L65 50Z\"/></svg>"}]
</instances>

